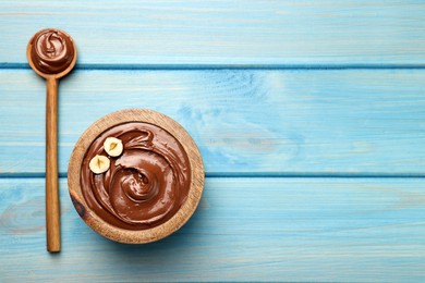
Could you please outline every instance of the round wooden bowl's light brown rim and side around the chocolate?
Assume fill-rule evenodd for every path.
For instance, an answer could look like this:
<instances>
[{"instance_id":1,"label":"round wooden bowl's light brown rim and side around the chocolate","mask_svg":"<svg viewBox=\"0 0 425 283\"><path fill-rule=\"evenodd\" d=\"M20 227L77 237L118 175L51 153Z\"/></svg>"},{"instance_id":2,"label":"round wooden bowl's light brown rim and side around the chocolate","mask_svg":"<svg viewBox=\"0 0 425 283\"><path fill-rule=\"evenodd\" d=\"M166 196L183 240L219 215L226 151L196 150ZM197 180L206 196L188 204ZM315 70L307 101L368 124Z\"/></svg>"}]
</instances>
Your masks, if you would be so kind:
<instances>
[{"instance_id":1,"label":"round wooden bowl's light brown rim and side around the chocolate","mask_svg":"<svg viewBox=\"0 0 425 283\"><path fill-rule=\"evenodd\" d=\"M185 201L169 220L160 225L145 230L126 230L102 220L87 205L81 184L83 159L93 142L105 131L130 122L153 124L167 131L183 147L190 162L191 181ZM204 165L199 150L187 132L172 119L161 113L143 109L118 111L96 121L83 133L76 143L68 169L70 196L81 218L100 235L126 244L155 242L179 230L196 210L204 187Z\"/></svg>"}]
</instances>

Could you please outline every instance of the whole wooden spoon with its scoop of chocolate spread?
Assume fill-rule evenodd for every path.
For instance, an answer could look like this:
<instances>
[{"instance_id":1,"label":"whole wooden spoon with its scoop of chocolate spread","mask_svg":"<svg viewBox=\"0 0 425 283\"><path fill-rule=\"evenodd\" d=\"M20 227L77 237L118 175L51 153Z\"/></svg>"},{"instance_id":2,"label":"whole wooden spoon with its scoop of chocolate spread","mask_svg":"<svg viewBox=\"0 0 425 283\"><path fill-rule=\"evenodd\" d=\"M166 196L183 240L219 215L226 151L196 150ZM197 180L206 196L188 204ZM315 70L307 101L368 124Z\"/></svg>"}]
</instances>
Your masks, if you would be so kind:
<instances>
[{"instance_id":1,"label":"whole wooden spoon with its scoop of chocolate spread","mask_svg":"<svg viewBox=\"0 0 425 283\"><path fill-rule=\"evenodd\" d=\"M47 250L60 251L58 189L58 82L74 67L76 47L71 36L46 28L33 36L26 49L31 67L47 79L46 91L46 236Z\"/></svg>"}]
</instances>

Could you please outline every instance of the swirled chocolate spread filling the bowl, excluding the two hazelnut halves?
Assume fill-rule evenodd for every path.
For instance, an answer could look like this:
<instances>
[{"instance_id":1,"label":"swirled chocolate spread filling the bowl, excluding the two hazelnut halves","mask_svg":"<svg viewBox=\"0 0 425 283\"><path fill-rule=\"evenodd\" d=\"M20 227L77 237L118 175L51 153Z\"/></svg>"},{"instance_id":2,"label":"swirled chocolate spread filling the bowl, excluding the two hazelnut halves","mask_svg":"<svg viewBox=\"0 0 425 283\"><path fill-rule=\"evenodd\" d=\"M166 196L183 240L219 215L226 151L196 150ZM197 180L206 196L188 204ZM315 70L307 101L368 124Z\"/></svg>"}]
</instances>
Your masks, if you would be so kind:
<instances>
[{"instance_id":1,"label":"swirled chocolate spread filling the bowl, excluding the two hazelnut halves","mask_svg":"<svg viewBox=\"0 0 425 283\"><path fill-rule=\"evenodd\" d=\"M104 142L116 137L123 152L110 157ZM110 159L107 172L95 174L88 163L96 155ZM129 122L100 134L87 149L81 168L87 206L104 221L126 230L146 230L171 219L187 198L191 164L182 145L163 128Z\"/></svg>"}]
</instances>

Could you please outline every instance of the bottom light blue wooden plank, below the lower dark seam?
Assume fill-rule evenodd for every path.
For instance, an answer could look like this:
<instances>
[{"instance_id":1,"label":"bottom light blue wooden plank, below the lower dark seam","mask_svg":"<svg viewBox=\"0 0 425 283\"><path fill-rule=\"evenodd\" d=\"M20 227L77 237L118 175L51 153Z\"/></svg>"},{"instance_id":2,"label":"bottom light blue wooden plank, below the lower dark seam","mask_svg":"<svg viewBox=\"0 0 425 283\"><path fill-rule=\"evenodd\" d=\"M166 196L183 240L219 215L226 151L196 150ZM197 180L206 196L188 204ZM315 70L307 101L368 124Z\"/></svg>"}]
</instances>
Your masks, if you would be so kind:
<instances>
[{"instance_id":1,"label":"bottom light blue wooden plank, below the lower dark seam","mask_svg":"<svg viewBox=\"0 0 425 283\"><path fill-rule=\"evenodd\" d=\"M424 179L207 179L201 207L151 245L102 238L62 179L62 246L45 249L44 179L0 179L0 281L425 280Z\"/></svg>"}]
</instances>

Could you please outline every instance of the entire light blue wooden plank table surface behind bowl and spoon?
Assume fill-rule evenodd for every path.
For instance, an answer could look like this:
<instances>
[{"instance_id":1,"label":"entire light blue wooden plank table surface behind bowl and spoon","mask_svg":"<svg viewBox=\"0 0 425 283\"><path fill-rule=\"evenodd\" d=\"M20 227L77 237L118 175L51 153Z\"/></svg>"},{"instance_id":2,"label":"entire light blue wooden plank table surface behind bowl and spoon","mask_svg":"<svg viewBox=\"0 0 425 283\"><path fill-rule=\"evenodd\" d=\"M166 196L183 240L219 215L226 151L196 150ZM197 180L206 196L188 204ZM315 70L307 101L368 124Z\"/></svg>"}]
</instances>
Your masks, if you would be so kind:
<instances>
[{"instance_id":1,"label":"entire light blue wooden plank table surface behind bowl and spoon","mask_svg":"<svg viewBox=\"0 0 425 283\"><path fill-rule=\"evenodd\" d=\"M69 32L62 251L45 244L45 81L25 49ZM160 111L206 168L174 235L93 232L66 187L86 127ZM0 2L0 282L425 281L424 1Z\"/></svg>"}]
</instances>

